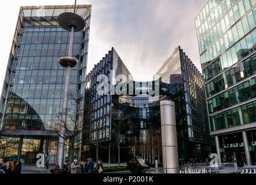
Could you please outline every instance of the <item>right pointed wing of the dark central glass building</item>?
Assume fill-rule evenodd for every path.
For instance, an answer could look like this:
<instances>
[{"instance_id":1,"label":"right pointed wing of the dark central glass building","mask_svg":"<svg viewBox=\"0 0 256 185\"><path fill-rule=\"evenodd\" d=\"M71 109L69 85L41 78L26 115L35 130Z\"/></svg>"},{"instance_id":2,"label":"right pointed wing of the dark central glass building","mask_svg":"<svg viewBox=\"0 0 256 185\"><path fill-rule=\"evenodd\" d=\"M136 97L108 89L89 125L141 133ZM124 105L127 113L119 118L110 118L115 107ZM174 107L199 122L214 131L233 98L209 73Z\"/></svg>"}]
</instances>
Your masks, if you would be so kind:
<instances>
[{"instance_id":1,"label":"right pointed wing of the dark central glass building","mask_svg":"<svg viewBox=\"0 0 256 185\"><path fill-rule=\"evenodd\" d=\"M182 158L208 157L214 148L207 119L203 76L180 46L156 72L163 83L178 85L175 102L179 153ZM200 153L200 154L199 154Z\"/></svg>"}]
</instances>

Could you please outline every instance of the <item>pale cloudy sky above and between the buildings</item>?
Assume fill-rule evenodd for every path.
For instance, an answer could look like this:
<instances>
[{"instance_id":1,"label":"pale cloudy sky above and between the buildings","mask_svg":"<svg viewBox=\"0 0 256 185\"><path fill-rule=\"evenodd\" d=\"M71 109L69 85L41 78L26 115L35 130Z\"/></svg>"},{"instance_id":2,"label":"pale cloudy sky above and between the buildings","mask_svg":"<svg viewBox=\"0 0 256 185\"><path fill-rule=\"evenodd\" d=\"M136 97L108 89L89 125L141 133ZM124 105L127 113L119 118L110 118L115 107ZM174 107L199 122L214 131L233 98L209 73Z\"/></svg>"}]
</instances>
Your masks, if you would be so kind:
<instances>
[{"instance_id":1,"label":"pale cloudy sky above and between the buildings","mask_svg":"<svg viewBox=\"0 0 256 185\"><path fill-rule=\"evenodd\" d=\"M92 5L87 73L114 47L134 80L149 81L178 45L201 71L195 15L206 0L77 0ZM0 11L0 91L20 6L72 5L74 0L8 0Z\"/></svg>"}]
</instances>

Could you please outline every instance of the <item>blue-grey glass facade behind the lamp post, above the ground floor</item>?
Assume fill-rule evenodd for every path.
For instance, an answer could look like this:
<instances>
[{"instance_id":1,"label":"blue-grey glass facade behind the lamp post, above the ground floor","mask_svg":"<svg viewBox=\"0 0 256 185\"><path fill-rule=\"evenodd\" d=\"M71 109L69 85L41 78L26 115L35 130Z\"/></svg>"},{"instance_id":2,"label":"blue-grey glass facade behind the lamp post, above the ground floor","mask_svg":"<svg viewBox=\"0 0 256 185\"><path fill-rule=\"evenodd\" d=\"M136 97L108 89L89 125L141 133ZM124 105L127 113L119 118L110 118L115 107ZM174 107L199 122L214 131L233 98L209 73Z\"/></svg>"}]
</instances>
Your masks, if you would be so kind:
<instances>
[{"instance_id":1,"label":"blue-grey glass facade behind the lamp post, above the ground floor","mask_svg":"<svg viewBox=\"0 0 256 185\"><path fill-rule=\"evenodd\" d=\"M58 64L58 58L68 56L70 32L60 28L56 19L58 14L69 10L53 7L41 11L43 18L38 17L36 13L40 11L34 6L21 8L23 26L17 33L14 56L8 66L10 77L2 129L46 130L59 120L66 69ZM78 5L76 11L83 18L90 14L83 5ZM89 19L85 22L86 28L74 33L72 57L78 60L78 65L71 69L70 75L67 120L70 125L75 109L72 98L83 97L81 88L85 87Z\"/></svg>"}]
</instances>

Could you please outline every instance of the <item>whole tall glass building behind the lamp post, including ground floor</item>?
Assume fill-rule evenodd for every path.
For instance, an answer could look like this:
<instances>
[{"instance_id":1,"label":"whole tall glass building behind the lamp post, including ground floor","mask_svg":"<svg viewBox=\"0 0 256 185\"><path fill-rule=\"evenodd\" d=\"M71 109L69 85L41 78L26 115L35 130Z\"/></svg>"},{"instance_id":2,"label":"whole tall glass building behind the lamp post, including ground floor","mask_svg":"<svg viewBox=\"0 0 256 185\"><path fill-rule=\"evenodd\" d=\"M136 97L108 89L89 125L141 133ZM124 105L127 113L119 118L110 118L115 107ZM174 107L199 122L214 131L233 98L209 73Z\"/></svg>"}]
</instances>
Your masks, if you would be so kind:
<instances>
[{"instance_id":1,"label":"whole tall glass building behind the lamp post, including ground floor","mask_svg":"<svg viewBox=\"0 0 256 185\"><path fill-rule=\"evenodd\" d=\"M74 108L72 98L85 96L90 11L91 5L77 5L75 10L86 26L74 34L72 57L78 65L71 69L68 114ZM58 135L53 125L58 124L65 83L65 69L58 64L58 58L68 55L70 43L70 32L57 23L58 15L64 12L74 12L74 6L20 8L0 104L0 134L12 140L12 146L0 148L4 160L31 164L36 154L43 152L50 164L56 162ZM71 119L67 121L74 124ZM79 153L78 148L75 156L79 157Z\"/></svg>"}]
</instances>

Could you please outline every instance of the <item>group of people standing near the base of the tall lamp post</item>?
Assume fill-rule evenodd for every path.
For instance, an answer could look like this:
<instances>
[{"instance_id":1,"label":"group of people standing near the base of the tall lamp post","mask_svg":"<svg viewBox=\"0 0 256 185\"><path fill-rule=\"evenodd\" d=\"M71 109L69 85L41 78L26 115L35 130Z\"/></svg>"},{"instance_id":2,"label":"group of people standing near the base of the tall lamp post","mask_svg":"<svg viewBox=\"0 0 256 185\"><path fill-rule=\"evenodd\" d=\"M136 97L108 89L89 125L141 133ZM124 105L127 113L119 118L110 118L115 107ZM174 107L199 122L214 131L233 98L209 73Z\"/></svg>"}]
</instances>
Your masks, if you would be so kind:
<instances>
[{"instance_id":1,"label":"group of people standing near the base of the tall lamp post","mask_svg":"<svg viewBox=\"0 0 256 185\"><path fill-rule=\"evenodd\" d=\"M94 173L94 162L92 158L88 158L85 165L83 165L82 161L80 161L78 164L78 160L74 160L74 162L72 162L70 166L70 169L71 173ZM98 160L96 169L97 173L103 172L103 162L101 160ZM60 173L60 165L58 164L58 162L56 162L54 173ZM67 163L65 163L63 166L63 173L68 173Z\"/></svg>"}]
</instances>

